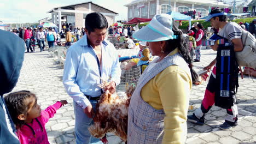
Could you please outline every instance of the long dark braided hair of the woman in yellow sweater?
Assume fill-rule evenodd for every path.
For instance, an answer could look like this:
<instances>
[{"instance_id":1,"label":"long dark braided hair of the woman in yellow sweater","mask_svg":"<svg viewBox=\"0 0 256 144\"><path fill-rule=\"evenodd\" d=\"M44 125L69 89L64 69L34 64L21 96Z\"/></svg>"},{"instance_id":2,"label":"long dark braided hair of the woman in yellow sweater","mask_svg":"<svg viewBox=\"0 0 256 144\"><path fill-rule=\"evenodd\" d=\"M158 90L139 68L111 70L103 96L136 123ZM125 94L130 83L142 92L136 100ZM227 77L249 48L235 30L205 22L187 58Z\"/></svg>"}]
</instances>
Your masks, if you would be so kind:
<instances>
[{"instance_id":1,"label":"long dark braided hair of the woman in yellow sweater","mask_svg":"<svg viewBox=\"0 0 256 144\"><path fill-rule=\"evenodd\" d=\"M172 22L172 31L174 33L174 35L178 35L177 39L170 39L167 40L166 45L165 45L165 49L164 52L165 53L170 53L171 51L173 51L174 49L176 49L178 47L179 52L181 53L182 57L184 58L185 62L188 63L189 68L190 68L190 73L192 76L192 81L197 82L198 81L198 74L196 73L196 71L193 69L193 59L190 57L190 54L188 52L189 49L189 39L188 37L184 37L182 34L182 31L180 29L178 29L178 27L176 26L176 23Z\"/></svg>"}]
</instances>

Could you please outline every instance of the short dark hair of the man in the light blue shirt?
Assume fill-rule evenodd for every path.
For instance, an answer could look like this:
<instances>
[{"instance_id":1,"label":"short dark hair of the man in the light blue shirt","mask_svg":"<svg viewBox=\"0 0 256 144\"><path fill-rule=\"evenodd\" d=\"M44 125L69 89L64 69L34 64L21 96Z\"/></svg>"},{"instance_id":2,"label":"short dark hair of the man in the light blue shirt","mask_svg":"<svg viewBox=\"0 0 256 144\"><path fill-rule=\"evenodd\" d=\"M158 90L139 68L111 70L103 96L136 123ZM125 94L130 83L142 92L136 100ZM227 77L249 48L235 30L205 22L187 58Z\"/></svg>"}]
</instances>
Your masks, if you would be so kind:
<instances>
[{"instance_id":1,"label":"short dark hair of the man in the light blue shirt","mask_svg":"<svg viewBox=\"0 0 256 144\"><path fill-rule=\"evenodd\" d=\"M108 28L108 21L101 13L90 13L85 17L85 28L90 34L91 32L94 32L96 28Z\"/></svg>"}]
</instances>

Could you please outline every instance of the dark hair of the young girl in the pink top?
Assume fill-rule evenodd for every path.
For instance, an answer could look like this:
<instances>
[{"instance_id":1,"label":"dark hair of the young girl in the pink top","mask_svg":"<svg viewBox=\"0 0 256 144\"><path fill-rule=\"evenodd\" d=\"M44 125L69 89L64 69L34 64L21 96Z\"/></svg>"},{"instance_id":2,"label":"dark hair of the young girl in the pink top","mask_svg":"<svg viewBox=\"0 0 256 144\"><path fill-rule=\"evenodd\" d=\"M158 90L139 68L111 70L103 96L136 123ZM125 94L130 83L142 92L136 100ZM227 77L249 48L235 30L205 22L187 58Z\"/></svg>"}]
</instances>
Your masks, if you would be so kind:
<instances>
[{"instance_id":1,"label":"dark hair of the young girl in the pink top","mask_svg":"<svg viewBox=\"0 0 256 144\"><path fill-rule=\"evenodd\" d=\"M33 102L31 98L37 100L36 95L30 91L14 92L4 97L5 104L16 128L21 128L25 124L25 121L20 120L18 116L21 114L27 116L27 111L31 108L30 104Z\"/></svg>"}]
</instances>

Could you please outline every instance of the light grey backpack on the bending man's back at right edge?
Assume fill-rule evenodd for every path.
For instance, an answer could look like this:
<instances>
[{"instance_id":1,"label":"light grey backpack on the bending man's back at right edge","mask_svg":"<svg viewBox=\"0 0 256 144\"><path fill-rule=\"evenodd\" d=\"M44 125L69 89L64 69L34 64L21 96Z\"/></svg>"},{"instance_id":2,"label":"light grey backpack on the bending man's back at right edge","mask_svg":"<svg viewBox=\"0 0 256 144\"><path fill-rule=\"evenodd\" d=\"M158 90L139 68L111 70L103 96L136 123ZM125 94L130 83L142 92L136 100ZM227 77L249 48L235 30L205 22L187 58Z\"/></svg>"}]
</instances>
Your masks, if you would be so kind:
<instances>
[{"instance_id":1,"label":"light grey backpack on the bending man's back at right edge","mask_svg":"<svg viewBox=\"0 0 256 144\"><path fill-rule=\"evenodd\" d=\"M255 37L242 29L243 50L236 52L237 63L243 67L256 69L256 39Z\"/></svg>"}]
</instances>

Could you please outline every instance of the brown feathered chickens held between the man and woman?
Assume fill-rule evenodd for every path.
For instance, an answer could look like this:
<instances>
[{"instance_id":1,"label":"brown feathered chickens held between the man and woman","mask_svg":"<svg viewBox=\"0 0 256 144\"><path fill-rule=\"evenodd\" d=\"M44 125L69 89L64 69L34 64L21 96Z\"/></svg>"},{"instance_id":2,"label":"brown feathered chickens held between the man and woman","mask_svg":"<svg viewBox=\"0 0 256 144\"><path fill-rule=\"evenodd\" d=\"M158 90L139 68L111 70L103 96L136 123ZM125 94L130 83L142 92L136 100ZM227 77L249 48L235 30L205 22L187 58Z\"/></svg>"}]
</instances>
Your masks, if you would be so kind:
<instances>
[{"instance_id":1,"label":"brown feathered chickens held between the man and woman","mask_svg":"<svg viewBox=\"0 0 256 144\"><path fill-rule=\"evenodd\" d=\"M100 85L103 89L106 86L108 86L107 82ZM106 133L112 132L119 136L121 140L127 140L128 107L134 89L135 86L128 88L124 98L120 98L116 92L111 94L109 91L101 95L93 117L94 125L88 128L91 135L102 138Z\"/></svg>"}]
</instances>

